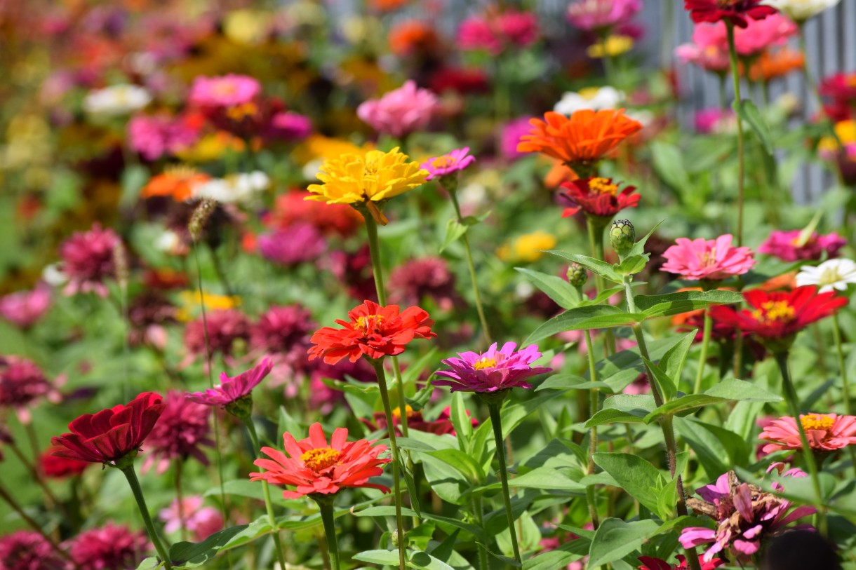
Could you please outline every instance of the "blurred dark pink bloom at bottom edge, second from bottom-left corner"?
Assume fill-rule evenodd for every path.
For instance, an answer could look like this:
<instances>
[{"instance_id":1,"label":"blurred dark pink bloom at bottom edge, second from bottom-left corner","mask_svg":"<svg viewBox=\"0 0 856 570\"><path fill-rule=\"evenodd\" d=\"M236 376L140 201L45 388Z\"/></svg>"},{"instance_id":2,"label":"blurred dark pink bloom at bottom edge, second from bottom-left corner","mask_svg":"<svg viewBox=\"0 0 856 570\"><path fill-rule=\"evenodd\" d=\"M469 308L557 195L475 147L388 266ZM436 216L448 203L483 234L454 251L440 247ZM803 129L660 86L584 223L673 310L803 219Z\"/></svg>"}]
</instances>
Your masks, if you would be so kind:
<instances>
[{"instance_id":1,"label":"blurred dark pink bloom at bottom edge, second from bottom-left corner","mask_svg":"<svg viewBox=\"0 0 856 570\"><path fill-rule=\"evenodd\" d=\"M144 531L108 522L74 537L69 554L80 570L126 570L137 567L150 549Z\"/></svg>"}]
</instances>

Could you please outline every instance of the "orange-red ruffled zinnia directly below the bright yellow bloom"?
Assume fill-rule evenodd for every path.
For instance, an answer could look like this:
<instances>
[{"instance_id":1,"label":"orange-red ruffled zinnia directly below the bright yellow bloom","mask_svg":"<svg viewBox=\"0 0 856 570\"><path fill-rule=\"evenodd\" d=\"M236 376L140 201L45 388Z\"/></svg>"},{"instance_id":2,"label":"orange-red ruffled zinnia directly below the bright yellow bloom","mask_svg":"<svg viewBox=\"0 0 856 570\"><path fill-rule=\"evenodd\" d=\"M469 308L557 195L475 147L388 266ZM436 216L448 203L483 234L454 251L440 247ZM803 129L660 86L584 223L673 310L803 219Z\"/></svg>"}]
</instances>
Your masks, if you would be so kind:
<instances>
[{"instance_id":1,"label":"orange-red ruffled zinnia directly below the bright yellow bloom","mask_svg":"<svg viewBox=\"0 0 856 570\"><path fill-rule=\"evenodd\" d=\"M342 329L318 329L310 341L309 359L324 357L324 362L336 364L346 356L356 362L364 354L370 359L395 356L415 338L437 336L431 332L434 321L418 306L409 306L399 314L399 306L380 306L366 300L348 312L348 321L336 320Z\"/></svg>"}]
</instances>

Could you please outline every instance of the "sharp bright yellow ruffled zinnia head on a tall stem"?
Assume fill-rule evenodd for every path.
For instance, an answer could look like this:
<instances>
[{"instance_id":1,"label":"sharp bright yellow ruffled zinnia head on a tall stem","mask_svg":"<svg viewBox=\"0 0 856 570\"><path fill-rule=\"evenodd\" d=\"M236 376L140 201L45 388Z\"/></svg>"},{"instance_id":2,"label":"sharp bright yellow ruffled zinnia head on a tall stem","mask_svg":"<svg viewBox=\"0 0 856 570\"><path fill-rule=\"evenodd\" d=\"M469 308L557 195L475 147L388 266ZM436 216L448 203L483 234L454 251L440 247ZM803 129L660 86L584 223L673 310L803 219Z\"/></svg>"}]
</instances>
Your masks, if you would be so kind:
<instances>
[{"instance_id":1,"label":"sharp bright yellow ruffled zinnia head on a tall stem","mask_svg":"<svg viewBox=\"0 0 856 570\"><path fill-rule=\"evenodd\" d=\"M311 184L307 189L313 195L306 199L327 204L362 204L377 223L385 224L386 217L375 202L422 186L428 174L419 168L419 163L409 162L397 146L389 152L346 153L324 161L318 173L323 184Z\"/></svg>"}]
</instances>

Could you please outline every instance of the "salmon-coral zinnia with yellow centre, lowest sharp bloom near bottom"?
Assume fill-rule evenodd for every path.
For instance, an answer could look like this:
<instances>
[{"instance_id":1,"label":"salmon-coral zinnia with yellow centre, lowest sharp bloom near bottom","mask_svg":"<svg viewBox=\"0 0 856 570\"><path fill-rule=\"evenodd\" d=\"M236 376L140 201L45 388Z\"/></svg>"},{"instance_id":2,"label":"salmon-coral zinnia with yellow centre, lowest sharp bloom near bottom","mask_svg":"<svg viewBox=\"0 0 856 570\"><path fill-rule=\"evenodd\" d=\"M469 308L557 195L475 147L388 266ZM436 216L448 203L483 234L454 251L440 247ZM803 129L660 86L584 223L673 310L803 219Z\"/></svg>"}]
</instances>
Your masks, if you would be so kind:
<instances>
[{"instance_id":1,"label":"salmon-coral zinnia with yellow centre, lowest sharp bloom near bottom","mask_svg":"<svg viewBox=\"0 0 856 570\"><path fill-rule=\"evenodd\" d=\"M383 466L392 461L378 455L386 451L385 445L372 446L374 441L360 439L348 442L348 430L336 428L330 443L324 436L321 424L309 426L309 437L294 440L290 433L282 434L288 455L274 448L262 448L268 459L255 460L263 473L250 473L250 481L267 481L270 484L294 485L296 490L284 490L286 499L301 496L330 495L344 488L369 487L389 493L389 487L369 483L369 478L383 473Z\"/></svg>"}]
</instances>

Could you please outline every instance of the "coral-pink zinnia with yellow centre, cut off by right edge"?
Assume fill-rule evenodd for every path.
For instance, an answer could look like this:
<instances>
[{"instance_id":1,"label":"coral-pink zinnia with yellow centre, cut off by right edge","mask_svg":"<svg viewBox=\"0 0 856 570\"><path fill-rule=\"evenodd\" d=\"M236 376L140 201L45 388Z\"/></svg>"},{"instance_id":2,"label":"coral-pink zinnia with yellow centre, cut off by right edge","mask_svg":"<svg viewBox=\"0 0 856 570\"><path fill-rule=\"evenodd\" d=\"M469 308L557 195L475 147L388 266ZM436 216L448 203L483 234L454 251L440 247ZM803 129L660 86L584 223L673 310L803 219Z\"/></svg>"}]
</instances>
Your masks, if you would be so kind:
<instances>
[{"instance_id":1,"label":"coral-pink zinnia with yellow centre, cut off by right edge","mask_svg":"<svg viewBox=\"0 0 856 570\"><path fill-rule=\"evenodd\" d=\"M800 416L805 438L817 452L832 452L856 443L856 417L835 413L809 413ZM793 416L774 419L764 428L761 439L770 440L764 446L765 454L782 449L801 449L800 428Z\"/></svg>"}]
</instances>

